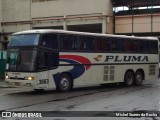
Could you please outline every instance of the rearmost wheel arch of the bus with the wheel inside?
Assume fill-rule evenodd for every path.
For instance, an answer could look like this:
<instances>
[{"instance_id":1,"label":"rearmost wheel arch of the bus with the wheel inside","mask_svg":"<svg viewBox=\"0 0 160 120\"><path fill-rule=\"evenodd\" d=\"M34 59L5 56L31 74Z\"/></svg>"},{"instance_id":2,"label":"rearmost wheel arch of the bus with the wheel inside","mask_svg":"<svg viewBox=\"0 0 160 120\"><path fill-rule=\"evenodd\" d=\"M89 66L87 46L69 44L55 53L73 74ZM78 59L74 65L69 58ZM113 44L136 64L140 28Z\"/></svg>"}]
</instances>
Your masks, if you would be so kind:
<instances>
[{"instance_id":1,"label":"rearmost wheel arch of the bus with the wheel inside","mask_svg":"<svg viewBox=\"0 0 160 120\"><path fill-rule=\"evenodd\" d=\"M143 71L143 69L138 69L138 70L135 72L135 81L134 81L134 84L135 84L136 86L141 86L143 80L145 80L144 71Z\"/></svg>"}]
</instances>

